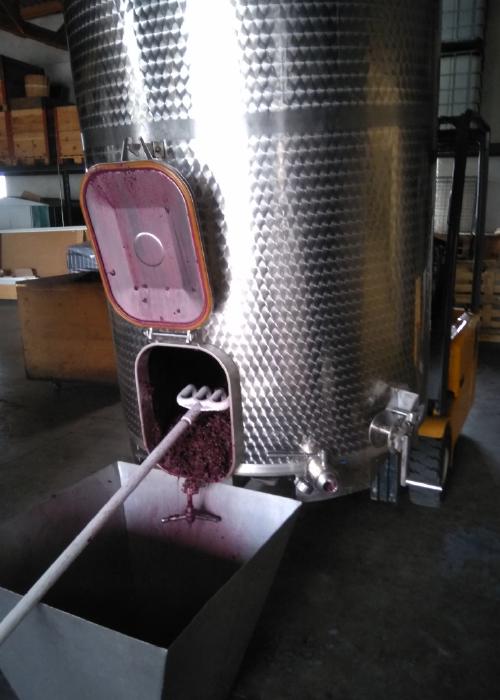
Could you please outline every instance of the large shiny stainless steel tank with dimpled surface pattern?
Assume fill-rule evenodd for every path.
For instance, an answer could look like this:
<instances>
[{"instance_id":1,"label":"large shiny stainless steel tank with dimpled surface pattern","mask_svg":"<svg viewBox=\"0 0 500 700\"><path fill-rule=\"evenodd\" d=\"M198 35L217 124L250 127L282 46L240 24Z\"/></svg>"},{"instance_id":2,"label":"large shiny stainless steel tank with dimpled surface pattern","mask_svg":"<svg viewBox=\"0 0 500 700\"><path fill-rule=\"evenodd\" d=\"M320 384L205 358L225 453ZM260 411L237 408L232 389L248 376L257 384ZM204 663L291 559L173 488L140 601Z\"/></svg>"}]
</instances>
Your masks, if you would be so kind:
<instances>
[{"instance_id":1,"label":"large shiny stainless steel tank with dimpled surface pattern","mask_svg":"<svg viewBox=\"0 0 500 700\"><path fill-rule=\"evenodd\" d=\"M87 163L143 158L143 139L180 171L214 297L187 335L113 314L138 454L145 346L145 381L163 376L167 393L208 350L231 390L237 471L293 473L305 498L366 488L384 420L414 422L438 12L434 0L66 1Z\"/></svg>"}]
</instances>

